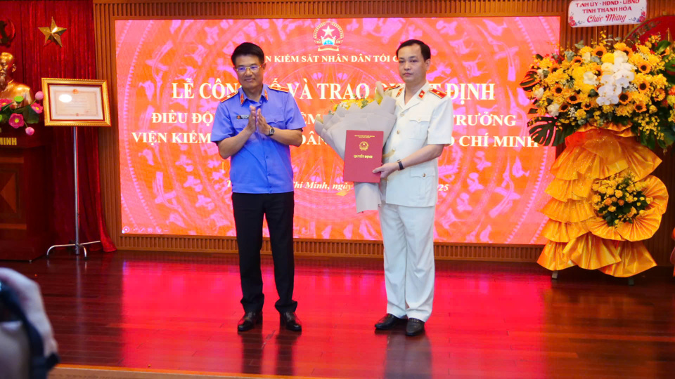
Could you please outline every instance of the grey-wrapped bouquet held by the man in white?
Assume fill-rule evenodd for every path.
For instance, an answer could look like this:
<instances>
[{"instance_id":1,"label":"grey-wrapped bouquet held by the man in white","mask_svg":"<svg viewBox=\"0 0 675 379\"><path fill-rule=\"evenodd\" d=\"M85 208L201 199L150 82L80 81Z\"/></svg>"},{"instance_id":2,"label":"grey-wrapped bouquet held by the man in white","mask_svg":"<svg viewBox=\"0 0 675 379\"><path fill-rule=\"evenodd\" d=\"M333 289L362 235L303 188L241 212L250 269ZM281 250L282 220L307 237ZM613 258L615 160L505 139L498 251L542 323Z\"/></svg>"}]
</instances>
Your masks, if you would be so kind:
<instances>
[{"instance_id":1,"label":"grey-wrapped bouquet held by the man in white","mask_svg":"<svg viewBox=\"0 0 675 379\"><path fill-rule=\"evenodd\" d=\"M383 131L384 140L396 122L396 101L384 94L378 82L374 99L344 100L335 105L314 122L314 129L340 158L345 159L347 130ZM354 183L356 212L374 211L380 205L380 189L377 183Z\"/></svg>"}]
</instances>

